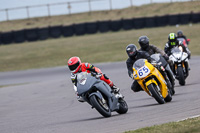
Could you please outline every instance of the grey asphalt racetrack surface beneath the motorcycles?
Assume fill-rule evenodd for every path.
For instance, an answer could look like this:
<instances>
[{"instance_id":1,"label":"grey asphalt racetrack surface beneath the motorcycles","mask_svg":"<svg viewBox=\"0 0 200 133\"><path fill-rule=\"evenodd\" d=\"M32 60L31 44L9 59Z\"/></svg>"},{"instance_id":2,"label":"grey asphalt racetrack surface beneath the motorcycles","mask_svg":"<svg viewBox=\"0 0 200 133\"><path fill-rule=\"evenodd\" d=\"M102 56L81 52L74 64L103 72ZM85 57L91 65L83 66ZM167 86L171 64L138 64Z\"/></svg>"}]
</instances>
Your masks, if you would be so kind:
<instances>
[{"instance_id":1,"label":"grey asphalt racetrack surface beneath the motorcycles","mask_svg":"<svg viewBox=\"0 0 200 133\"><path fill-rule=\"evenodd\" d=\"M186 85L176 81L170 103L159 105L130 89L125 62L95 64L121 88L129 110L104 118L77 101L67 67L0 73L0 133L121 133L200 114L200 57L190 60Z\"/></svg>"}]
</instances>

